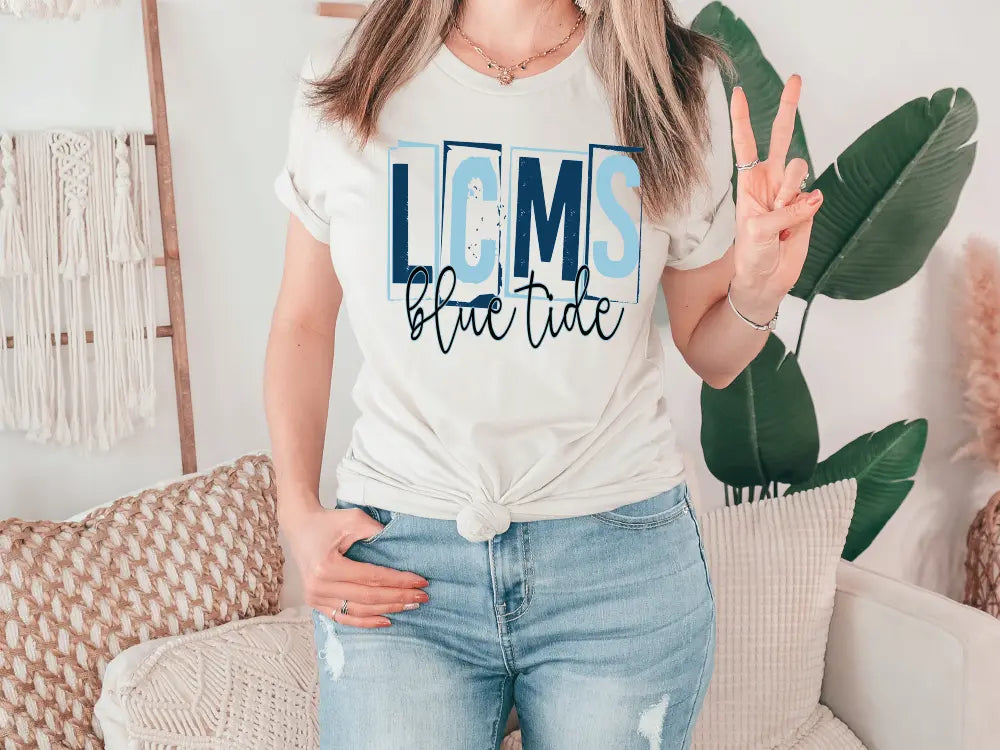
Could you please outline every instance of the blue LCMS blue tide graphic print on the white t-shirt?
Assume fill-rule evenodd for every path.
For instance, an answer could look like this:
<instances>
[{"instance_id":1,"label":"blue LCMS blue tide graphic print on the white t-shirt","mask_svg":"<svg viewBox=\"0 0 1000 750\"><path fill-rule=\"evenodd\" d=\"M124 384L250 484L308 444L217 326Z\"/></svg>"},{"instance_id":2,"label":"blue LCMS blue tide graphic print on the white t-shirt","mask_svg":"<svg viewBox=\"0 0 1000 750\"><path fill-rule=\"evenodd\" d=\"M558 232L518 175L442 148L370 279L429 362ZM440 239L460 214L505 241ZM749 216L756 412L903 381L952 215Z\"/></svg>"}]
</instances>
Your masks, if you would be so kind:
<instances>
[{"instance_id":1,"label":"blue LCMS blue tide graphic print on the white t-shirt","mask_svg":"<svg viewBox=\"0 0 1000 750\"><path fill-rule=\"evenodd\" d=\"M637 151L391 147L387 287L411 338L430 326L446 353L459 331L611 338L639 299Z\"/></svg>"}]
</instances>

